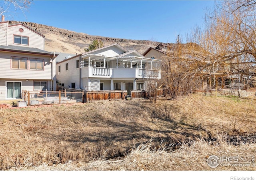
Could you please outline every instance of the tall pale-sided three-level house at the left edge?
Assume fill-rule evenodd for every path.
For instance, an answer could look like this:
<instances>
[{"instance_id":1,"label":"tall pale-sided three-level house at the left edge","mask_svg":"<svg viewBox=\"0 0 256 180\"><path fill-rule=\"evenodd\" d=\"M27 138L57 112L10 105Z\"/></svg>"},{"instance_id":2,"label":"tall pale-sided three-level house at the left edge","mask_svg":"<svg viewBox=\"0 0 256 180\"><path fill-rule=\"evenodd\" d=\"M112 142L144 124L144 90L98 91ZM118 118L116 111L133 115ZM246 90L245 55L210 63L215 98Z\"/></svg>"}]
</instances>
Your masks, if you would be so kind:
<instances>
[{"instance_id":1,"label":"tall pale-sided three-level house at the left edge","mask_svg":"<svg viewBox=\"0 0 256 180\"><path fill-rule=\"evenodd\" d=\"M0 22L0 100L22 90L56 90L56 56L44 50L44 35L24 24Z\"/></svg>"}]
</instances>

